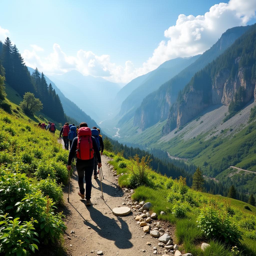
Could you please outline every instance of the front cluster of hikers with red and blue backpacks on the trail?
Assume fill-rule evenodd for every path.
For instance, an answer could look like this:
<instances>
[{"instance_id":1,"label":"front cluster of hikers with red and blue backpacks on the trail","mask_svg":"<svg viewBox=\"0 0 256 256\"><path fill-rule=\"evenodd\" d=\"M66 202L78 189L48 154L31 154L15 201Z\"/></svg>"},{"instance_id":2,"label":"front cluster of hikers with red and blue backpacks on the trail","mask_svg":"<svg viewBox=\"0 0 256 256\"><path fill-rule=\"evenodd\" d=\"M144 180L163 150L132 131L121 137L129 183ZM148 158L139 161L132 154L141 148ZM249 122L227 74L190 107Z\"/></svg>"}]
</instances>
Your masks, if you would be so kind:
<instances>
[{"instance_id":1,"label":"front cluster of hikers with red and blue backpacks on the trail","mask_svg":"<svg viewBox=\"0 0 256 256\"><path fill-rule=\"evenodd\" d=\"M92 127L90 129L87 123L80 123L79 126L65 123L60 130L60 136L63 138L64 147L69 150L67 168L71 170L71 163L76 158L76 170L78 174L78 195L86 199L86 205L91 205L92 174L94 179L98 179L97 169L101 168L101 156L104 150L104 143L100 129ZM84 189L84 182L86 189Z\"/></svg>"}]
</instances>

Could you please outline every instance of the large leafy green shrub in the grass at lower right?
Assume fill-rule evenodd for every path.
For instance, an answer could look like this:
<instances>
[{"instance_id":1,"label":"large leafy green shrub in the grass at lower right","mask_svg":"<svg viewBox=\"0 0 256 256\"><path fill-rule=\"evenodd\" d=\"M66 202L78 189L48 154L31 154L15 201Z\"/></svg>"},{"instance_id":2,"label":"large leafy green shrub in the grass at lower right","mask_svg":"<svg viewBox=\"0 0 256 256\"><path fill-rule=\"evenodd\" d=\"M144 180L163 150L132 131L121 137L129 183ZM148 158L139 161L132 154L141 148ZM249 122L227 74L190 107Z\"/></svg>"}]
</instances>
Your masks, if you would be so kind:
<instances>
[{"instance_id":1,"label":"large leafy green shrub in the grass at lower right","mask_svg":"<svg viewBox=\"0 0 256 256\"><path fill-rule=\"evenodd\" d=\"M242 239L242 232L231 221L227 211L220 211L212 205L201 209L197 223L206 238L220 239L227 243L239 243L239 239Z\"/></svg>"}]
</instances>

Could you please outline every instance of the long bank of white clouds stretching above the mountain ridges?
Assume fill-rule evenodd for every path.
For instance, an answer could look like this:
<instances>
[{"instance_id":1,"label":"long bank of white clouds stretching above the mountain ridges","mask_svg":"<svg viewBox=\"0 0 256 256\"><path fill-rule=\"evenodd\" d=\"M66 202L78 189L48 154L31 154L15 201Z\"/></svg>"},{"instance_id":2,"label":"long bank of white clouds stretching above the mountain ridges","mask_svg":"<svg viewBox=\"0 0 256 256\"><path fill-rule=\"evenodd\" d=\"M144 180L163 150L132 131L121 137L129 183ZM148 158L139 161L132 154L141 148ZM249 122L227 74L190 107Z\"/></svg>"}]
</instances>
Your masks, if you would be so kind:
<instances>
[{"instance_id":1,"label":"long bank of white clouds stretching above the mountain ridges","mask_svg":"<svg viewBox=\"0 0 256 256\"><path fill-rule=\"evenodd\" d=\"M212 6L204 15L195 17L180 14L176 24L164 31L167 40L159 43L152 56L140 68L134 68L130 60L124 65L117 65L111 62L109 55L98 56L92 51L82 49L76 56L67 56L58 44L53 45L53 52L47 57L40 56L38 51L43 49L36 45L31 45L32 50L25 50L22 56L28 66L38 67L45 73L59 74L77 69L84 75L101 76L125 83L154 70L166 60L203 53L228 28L246 25L255 17L255 10L255 0L230 0L228 3Z\"/></svg>"}]
</instances>

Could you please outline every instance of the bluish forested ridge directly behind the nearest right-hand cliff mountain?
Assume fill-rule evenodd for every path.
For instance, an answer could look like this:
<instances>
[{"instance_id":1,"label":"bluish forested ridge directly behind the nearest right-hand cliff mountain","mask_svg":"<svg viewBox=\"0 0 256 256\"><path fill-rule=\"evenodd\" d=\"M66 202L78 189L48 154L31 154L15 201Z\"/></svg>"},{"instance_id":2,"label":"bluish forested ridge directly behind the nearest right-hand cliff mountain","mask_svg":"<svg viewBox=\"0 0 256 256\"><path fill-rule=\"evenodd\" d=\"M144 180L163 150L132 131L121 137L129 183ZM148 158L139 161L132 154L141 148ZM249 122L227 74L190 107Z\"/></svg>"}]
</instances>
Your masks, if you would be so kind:
<instances>
[{"instance_id":1,"label":"bluish forested ridge directly behind the nearest right-hand cliff mountain","mask_svg":"<svg viewBox=\"0 0 256 256\"><path fill-rule=\"evenodd\" d=\"M177 76L164 83L157 91L145 97L134 115L134 126L145 129L168 117L170 106L196 72L222 54L233 42L245 33L250 26L234 27L222 34L221 38L194 63Z\"/></svg>"}]
</instances>

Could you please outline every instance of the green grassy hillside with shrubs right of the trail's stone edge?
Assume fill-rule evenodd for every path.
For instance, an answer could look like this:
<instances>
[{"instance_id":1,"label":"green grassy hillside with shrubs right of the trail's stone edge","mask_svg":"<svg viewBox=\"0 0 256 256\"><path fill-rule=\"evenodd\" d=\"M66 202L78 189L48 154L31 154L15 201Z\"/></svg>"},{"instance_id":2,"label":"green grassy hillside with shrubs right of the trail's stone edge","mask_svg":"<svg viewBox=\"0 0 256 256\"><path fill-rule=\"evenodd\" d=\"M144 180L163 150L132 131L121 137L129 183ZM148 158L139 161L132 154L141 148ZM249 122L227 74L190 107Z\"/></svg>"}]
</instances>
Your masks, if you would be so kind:
<instances>
[{"instance_id":1,"label":"green grassy hillside with shrubs right of the trail's stone edge","mask_svg":"<svg viewBox=\"0 0 256 256\"><path fill-rule=\"evenodd\" d=\"M132 199L151 202L150 212L170 222L182 253L196 256L255 255L256 207L239 200L195 191L186 178L173 180L154 172L147 159L125 159L105 152L119 177L121 187L135 189ZM161 215L161 211L164 214ZM202 251L202 242L210 247ZM231 252L237 246L237 254Z\"/></svg>"}]
</instances>

